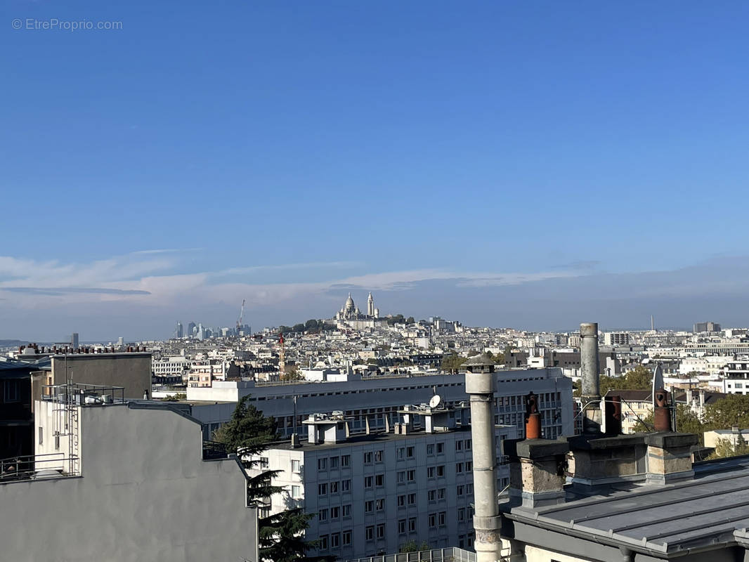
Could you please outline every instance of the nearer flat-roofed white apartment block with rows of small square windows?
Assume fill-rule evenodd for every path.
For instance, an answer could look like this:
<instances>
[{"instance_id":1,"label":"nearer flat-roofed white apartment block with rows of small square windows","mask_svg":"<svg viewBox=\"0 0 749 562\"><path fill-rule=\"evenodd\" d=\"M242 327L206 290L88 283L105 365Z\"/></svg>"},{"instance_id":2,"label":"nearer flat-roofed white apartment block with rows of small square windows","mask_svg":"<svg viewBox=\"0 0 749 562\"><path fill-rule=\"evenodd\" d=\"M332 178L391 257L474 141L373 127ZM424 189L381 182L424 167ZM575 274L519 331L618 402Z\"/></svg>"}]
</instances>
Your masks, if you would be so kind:
<instances>
[{"instance_id":1,"label":"nearer flat-roofed white apartment block with rows of small square windows","mask_svg":"<svg viewBox=\"0 0 749 562\"><path fill-rule=\"evenodd\" d=\"M280 471L272 484L285 489L261 516L290 507L315 514L306 539L319 543L310 555L361 558L398 552L411 540L470 549L473 451L470 425L459 420L467 409L410 408L400 415L407 421L394 432L348 438L340 413L310 417L308 441L278 444L259 458L265 470ZM497 441L516 435L514 426L497 426ZM509 466L497 460L503 490Z\"/></svg>"}]
</instances>

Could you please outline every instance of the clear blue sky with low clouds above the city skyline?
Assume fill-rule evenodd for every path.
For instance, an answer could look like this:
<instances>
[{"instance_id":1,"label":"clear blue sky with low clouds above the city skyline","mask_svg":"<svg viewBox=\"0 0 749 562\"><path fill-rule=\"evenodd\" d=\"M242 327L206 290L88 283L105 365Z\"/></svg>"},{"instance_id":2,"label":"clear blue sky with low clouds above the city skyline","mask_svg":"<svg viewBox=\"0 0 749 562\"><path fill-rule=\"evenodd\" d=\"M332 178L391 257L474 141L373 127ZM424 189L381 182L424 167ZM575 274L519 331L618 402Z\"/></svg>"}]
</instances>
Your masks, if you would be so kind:
<instances>
[{"instance_id":1,"label":"clear blue sky with low clouds above the city skyline","mask_svg":"<svg viewBox=\"0 0 749 562\"><path fill-rule=\"evenodd\" d=\"M1 8L0 337L749 324L745 2L66 4Z\"/></svg>"}]
</instances>

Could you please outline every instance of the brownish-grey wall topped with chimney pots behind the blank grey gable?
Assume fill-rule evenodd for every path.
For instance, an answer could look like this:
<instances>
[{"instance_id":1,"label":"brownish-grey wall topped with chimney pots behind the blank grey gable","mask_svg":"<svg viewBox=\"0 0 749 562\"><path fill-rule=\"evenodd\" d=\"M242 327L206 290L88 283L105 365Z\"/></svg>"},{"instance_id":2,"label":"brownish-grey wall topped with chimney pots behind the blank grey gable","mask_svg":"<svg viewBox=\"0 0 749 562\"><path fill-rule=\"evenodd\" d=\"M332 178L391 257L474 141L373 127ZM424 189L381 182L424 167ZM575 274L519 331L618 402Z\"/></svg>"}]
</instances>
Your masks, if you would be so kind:
<instances>
[{"instance_id":1,"label":"brownish-grey wall topped with chimney pots behind the blank grey gable","mask_svg":"<svg viewBox=\"0 0 749 562\"><path fill-rule=\"evenodd\" d=\"M54 384L65 384L65 357L52 356ZM73 382L124 387L125 398L151 397L150 353L97 353L67 355L67 370Z\"/></svg>"}]
</instances>

